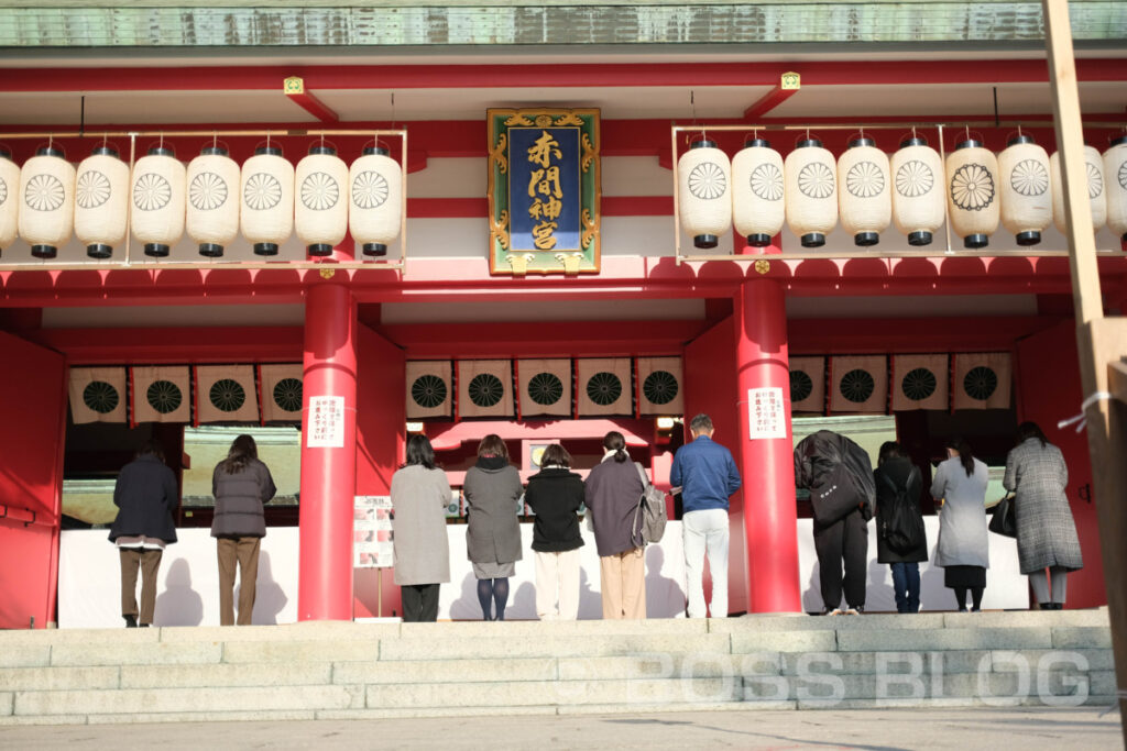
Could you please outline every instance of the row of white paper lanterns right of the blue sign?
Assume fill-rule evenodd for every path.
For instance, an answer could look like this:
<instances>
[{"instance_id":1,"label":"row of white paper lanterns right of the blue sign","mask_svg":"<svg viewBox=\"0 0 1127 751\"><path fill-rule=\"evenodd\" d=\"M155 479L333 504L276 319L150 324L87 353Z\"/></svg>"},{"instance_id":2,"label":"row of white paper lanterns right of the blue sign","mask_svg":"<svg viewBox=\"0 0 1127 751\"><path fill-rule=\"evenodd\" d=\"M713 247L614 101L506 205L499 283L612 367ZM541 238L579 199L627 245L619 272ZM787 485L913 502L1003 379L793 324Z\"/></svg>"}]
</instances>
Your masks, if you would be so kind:
<instances>
[{"instance_id":1,"label":"row of white paper lanterns right of the blue sign","mask_svg":"<svg viewBox=\"0 0 1127 751\"><path fill-rule=\"evenodd\" d=\"M1084 162L1094 229L1107 224L1127 241L1127 136L1102 155L1085 146ZM890 224L926 245L944 216L966 248L985 247L1000 222L1019 245L1033 245L1050 224L1063 232L1067 222L1059 154L1022 134L996 155L968 135L946 163L917 136L889 159L862 135L836 160L813 137L786 160L756 137L730 161L706 138L681 155L677 181L681 226L696 248L715 248L733 225L747 244L765 247L784 222L802 247L818 248L838 218L861 247L877 244Z\"/></svg>"}]
</instances>

